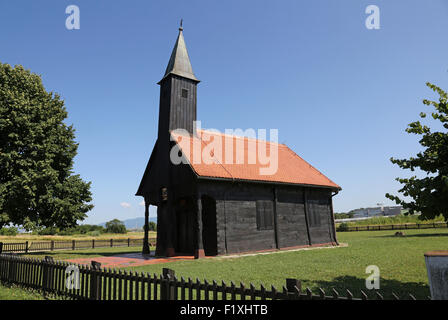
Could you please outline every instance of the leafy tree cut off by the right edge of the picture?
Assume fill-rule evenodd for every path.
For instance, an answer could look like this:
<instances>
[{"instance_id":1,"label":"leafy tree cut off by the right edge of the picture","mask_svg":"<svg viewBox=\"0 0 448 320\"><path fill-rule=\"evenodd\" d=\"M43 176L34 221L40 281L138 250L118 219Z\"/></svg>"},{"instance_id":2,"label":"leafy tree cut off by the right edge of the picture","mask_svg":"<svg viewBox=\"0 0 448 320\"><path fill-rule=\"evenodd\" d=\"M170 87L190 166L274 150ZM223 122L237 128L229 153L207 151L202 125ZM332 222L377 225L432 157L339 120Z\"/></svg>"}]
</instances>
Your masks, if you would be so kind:
<instances>
[{"instance_id":1,"label":"leafy tree cut off by the right edge of the picture","mask_svg":"<svg viewBox=\"0 0 448 320\"><path fill-rule=\"evenodd\" d=\"M444 129L448 129L447 93L431 83L426 85L440 97L438 102L425 99L423 103L435 108L431 113L432 118L438 120ZM425 118L426 113L420 113L420 117ZM409 159L390 160L402 169L414 171L417 168L427 175L421 179L416 176L396 179L404 185L399 192L412 198L412 201L406 202L388 193L386 197L408 209L407 214L421 212L425 219L442 214L448 221L448 130L432 132L428 126L415 121L408 125L406 132L422 136L419 143L424 147L424 151Z\"/></svg>"}]
</instances>

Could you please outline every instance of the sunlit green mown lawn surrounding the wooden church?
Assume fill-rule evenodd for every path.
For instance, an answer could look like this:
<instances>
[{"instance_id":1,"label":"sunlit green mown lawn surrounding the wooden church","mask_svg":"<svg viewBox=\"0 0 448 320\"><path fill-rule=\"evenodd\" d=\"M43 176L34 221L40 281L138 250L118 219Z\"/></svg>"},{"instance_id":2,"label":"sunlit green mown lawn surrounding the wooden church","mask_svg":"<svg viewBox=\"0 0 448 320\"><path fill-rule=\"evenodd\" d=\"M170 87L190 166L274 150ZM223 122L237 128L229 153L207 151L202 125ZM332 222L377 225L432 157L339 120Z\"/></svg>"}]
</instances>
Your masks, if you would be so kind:
<instances>
[{"instance_id":1,"label":"sunlit green mown lawn surrounding the wooden church","mask_svg":"<svg viewBox=\"0 0 448 320\"><path fill-rule=\"evenodd\" d=\"M394 231L366 231L338 233L346 247L283 251L278 253L215 257L200 260L177 261L158 265L129 267L126 270L160 274L169 267L178 277L207 280L231 280L239 285L252 282L258 286L275 285L280 289L286 278L302 280L304 287L325 291L335 288L341 293L350 289L355 296L365 290L365 269L376 265L380 269L380 290L386 298L393 291L403 296L412 293L420 299L429 295L424 253L448 249L448 229L406 230L405 237L395 237ZM97 257L124 252L140 252L141 248L98 248L76 251L35 253L28 256L52 255L56 260ZM154 250L154 248L152 248Z\"/></svg>"}]
</instances>

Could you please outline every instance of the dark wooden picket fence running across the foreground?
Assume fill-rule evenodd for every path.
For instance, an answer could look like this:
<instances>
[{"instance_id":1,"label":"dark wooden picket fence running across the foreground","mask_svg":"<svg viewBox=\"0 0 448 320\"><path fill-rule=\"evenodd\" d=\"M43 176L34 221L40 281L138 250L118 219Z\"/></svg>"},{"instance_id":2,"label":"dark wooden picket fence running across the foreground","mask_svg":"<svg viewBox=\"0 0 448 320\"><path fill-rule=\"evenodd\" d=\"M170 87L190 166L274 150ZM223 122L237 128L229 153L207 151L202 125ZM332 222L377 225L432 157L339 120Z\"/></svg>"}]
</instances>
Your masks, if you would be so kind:
<instances>
[{"instance_id":1,"label":"dark wooden picket fence running across the foreground","mask_svg":"<svg viewBox=\"0 0 448 320\"><path fill-rule=\"evenodd\" d=\"M63 261L24 258L11 254L0 255L0 280L27 288L41 290L71 299L90 300L383 300L379 291L369 297L360 291L360 297L346 290L339 294L323 289L317 293L309 288L302 290L301 282L286 279L281 290L274 286L255 288L234 282L219 284L213 280L200 281L191 278L178 279L173 270L163 269L162 275L127 272L116 269L102 269L101 264L92 261L92 266L74 265ZM78 281L79 280L79 281ZM393 299L400 298L392 293ZM409 294L402 299L415 300Z\"/></svg>"}]
</instances>

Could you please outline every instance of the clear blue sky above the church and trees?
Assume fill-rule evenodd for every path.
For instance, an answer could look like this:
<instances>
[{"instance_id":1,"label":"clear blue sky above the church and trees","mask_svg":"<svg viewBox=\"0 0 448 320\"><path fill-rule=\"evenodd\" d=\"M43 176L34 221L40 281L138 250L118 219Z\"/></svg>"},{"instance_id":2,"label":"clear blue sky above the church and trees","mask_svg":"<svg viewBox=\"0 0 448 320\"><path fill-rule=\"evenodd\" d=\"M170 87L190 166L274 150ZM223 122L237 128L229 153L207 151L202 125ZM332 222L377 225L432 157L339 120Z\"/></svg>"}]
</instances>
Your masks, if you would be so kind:
<instances>
[{"instance_id":1,"label":"clear blue sky above the church and trees","mask_svg":"<svg viewBox=\"0 0 448 320\"><path fill-rule=\"evenodd\" d=\"M79 30L65 27L71 4ZM379 30L365 27L370 4ZM407 174L389 158L420 150L404 129L436 98L425 83L448 89L448 1L1 0L0 61L40 74L76 128L85 222L143 215L134 194L181 18L204 128L277 128L342 186L336 212L392 204Z\"/></svg>"}]
</instances>

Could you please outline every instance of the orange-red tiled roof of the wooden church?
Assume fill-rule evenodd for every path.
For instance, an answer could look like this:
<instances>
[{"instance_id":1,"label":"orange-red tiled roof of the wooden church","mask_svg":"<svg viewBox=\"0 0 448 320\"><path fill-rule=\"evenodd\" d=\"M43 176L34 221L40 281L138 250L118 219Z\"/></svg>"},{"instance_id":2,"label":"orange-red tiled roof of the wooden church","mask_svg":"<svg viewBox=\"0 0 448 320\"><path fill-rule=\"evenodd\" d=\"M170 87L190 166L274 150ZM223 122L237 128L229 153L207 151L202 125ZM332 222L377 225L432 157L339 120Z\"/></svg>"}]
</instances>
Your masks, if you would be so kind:
<instances>
[{"instance_id":1,"label":"orange-red tiled roof of the wooden church","mask_svg":"<svg viewBox=\"0 0 448 320\"><path fill-rule=\"evenodd\" d=\"M172 131L171 136L177 142L191 168L200 177L314 185L341 189L284 144L205 130L198 130L197 136ZM266 153L262 154L268 155L265 161L256 156L259 153L258 146L264 143ZM228 158L226 158L224 152L226 145L233 145L233 148L231 148L233 150L230 150L227 155ZM256 146L256 149L254 146ZM270 151L275 151L275 148L278 150L278 166L274 166L274 169L268 174L262 174L263 168L266 170L269 167L269 162L266 160L270 159ZM203 158L198 156L200 154L203 155ZM210 157L205 156L208 154L210 154ZM244 159L239 155L244 155ZM238 162L237 156L243 161ZM274 158L271 157L271 159Z\"/></svg>"}]
</instances>

